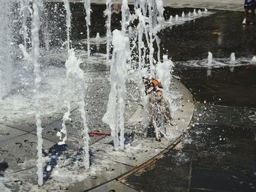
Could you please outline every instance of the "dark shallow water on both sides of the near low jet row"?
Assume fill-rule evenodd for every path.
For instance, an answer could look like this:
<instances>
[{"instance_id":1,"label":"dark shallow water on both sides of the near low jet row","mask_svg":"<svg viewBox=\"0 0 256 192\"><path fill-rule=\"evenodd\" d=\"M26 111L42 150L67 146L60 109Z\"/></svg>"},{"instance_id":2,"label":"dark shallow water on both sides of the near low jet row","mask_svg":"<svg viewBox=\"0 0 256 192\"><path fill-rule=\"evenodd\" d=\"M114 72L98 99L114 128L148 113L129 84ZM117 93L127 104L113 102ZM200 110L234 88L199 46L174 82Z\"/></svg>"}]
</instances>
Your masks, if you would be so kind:
<instances>
[{"instance_id":1,"label":"dark shallow water on both sides of the near low jet row","mask_svg":"<svg viewBox=\"0 0 256 192\"><path fill-rule=\"evenodd\" d=\"M172 15L181 10L170 9ZM202 60L208 51L215 58L251 59L256 52L256 27L243 26L242 12L214 11L207 18L200 18L184 26L166 28L162 42L174 61ZM256 66L238 66L234 72L229 68L207 69L176 65L175 74L192 91L196 101L210 104L256 107Z\"/></svg>"}]
</instances>

